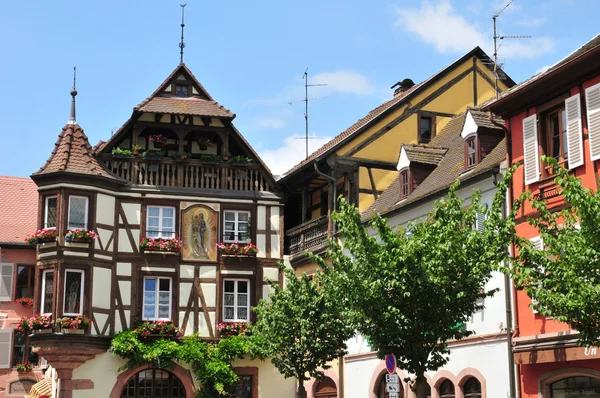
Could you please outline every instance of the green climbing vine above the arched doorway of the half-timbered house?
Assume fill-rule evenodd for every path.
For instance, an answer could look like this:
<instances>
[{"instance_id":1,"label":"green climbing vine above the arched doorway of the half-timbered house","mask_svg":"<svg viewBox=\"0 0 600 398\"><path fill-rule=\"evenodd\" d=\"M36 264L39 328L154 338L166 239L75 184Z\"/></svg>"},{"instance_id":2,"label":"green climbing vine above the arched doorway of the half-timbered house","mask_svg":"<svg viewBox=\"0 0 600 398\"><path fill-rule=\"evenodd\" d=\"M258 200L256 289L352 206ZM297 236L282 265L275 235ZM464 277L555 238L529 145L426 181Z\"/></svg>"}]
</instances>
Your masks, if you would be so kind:
<instances>
[{"instance_id":1,"label":"green climbing vine above the arched doorway of the half-timbered house","mask_svg":"<svg viewBox=\"0 0 600 398\"><path fill-rule=\"evenodd\" d=\"M139 329L116 334L111 341L110 351L127 359L119 371L146 364L168 369L175 362L190 363L196 378L203 382L202 389L196 392L196 398L229 396L239 380L231 362L252 354L248 336L230 336L216 343L203 341L198 335L186 336L181 340L162 336L151 340L145 338Z\"/></svg>"}]
</instances>

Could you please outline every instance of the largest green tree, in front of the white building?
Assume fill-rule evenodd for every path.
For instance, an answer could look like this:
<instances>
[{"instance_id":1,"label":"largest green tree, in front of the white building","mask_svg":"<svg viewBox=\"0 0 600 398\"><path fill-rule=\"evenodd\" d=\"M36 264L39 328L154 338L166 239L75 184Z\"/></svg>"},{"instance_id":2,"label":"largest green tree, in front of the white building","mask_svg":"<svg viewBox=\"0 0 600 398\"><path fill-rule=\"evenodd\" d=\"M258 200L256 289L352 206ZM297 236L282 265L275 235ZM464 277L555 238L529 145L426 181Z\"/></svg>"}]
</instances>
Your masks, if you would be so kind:
<instances>
[{"instance_id":1,"label":"largest green tree, in front of the white building","mask_svg":"<svg viewBox=\"0 0 600 398\"><path fill-rule=\"evenodd\" d=\"M400 368L416 375L418 398L426 397L425 372L448 361L447 341L472 334L464 325L481 308L477 300L495 293L484 289L492 271L507 260L514 234L518 203L508 217L502 212L513 172L498 183L489 210L478 192L466 206L457 196L457 182L426 219L409 226L410 232L391 228L380 215L369 230L358 209L344 200L333 216L343 247L332 244L331 266L323 259L319 265L333 269L328 282L378 357L393 353ZM474 228L478 213L487 217L483 231Z\"/></svg>"}]
</instances>

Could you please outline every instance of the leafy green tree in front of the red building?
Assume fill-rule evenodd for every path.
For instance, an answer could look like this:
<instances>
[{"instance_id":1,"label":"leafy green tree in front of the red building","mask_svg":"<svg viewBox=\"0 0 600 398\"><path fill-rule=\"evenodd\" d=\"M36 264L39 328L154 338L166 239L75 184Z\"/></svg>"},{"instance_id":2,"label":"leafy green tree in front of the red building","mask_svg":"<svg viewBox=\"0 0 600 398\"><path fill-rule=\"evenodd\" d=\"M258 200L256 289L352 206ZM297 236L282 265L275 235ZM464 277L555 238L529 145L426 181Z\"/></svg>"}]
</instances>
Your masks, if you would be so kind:
<instances>
[{"instance_id":1,"label":"leafy green tree in front of the red building","mask_svg":"<svg viewBox=\"0 0 600 398\"><path fill-rule=\"evenodd\" d=\"M582 185L556 160L543 159L556 173L564 196L562 210L531 198L537 211L529 224L538 228L542 245L517 239L514 265L517 288L535 298L532 307L579 331L583 345L600 344L600 193Z\"/></svg>"}]
</instances>

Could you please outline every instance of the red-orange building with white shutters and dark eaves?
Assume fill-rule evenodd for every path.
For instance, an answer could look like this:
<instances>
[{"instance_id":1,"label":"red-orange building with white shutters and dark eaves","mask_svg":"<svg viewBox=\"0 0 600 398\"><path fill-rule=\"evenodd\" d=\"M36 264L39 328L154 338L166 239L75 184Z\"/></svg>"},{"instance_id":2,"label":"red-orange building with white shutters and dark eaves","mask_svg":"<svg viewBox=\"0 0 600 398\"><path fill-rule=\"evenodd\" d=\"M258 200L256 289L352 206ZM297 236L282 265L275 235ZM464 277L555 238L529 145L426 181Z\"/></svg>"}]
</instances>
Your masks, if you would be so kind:
<instances>
[{"instance_id":1,"label":"red-orange building with white shutters and dark eaves","mask_svg":"<svg viewBox=\"0 0 600 398\"><path fill-rule=\"evenodd\" d=\"M564 207L551 170L540 156L556 158L583 184L598 189L600 169L600 35L543 73L509 90L484 107L506 122L508 160L522 164L511 197L530 190L549 208ZM519 236L541 244L527 223L530 203L519 213ZM516 291L514 360L520 396L600 397L600 350L577 347L577 332L536 313L525 291Z\"/></svg>"}]
</instances>

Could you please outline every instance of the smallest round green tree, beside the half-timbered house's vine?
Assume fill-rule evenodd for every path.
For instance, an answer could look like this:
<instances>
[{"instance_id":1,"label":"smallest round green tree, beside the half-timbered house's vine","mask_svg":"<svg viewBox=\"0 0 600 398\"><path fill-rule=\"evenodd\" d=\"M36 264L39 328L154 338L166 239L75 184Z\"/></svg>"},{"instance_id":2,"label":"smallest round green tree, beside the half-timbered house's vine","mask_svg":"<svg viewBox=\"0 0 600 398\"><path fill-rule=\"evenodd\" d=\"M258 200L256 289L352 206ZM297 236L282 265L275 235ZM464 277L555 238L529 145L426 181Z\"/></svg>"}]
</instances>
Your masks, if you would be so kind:
<instances>
[{"instance_id":1,"label":"smallest round green tree, beside the half-timbered house's vine","mask_svg":"<svg viewBox=\"0 0 600 398\"><path fill-rule=\"evenodd\" d=\"M346 353L346 340L354 336L343 303L325 289L327 276L320 271L309 278L296 277L281 266L286 286L272 283L275 292L254 308L254 345L286 378L298 380L298 396L306 397L304 382L321 378L330 362Z\"/></svg>"}]
</instances>

